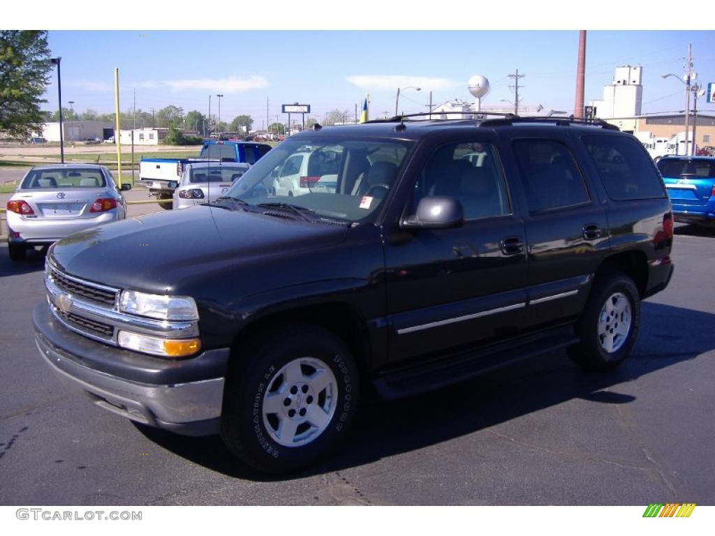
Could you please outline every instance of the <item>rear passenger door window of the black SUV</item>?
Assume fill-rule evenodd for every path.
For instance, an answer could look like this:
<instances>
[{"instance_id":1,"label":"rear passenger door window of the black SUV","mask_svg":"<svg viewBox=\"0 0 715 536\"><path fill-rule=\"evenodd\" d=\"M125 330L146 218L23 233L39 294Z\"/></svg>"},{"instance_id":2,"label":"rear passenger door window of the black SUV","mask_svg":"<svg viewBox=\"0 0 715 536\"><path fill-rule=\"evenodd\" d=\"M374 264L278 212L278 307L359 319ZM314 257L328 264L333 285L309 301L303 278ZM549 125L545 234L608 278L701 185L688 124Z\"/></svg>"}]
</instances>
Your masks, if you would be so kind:
<instances>
[{"instance_id":1,"label":"rear passenger door window of the black SUV","mask_svg":"<svg viewBox=\"0 0 715 536\"><path fill-rule=\"evenodd\" d=\"M529 212L588 203L586 184L571 151L552 139L517 139L514 154L523 179Z\"/></svg>"}]
</instances>

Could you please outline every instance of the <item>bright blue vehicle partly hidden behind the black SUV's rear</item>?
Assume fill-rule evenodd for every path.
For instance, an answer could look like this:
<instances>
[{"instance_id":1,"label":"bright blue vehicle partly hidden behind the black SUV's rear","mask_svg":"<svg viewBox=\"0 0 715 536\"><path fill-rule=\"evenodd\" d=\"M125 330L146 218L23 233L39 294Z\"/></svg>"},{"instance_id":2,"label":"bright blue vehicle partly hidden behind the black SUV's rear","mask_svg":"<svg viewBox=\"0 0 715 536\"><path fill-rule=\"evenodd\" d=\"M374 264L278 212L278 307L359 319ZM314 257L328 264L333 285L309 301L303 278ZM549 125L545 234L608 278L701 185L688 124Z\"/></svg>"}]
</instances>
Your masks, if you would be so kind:
<instances>
[{"instance_id":1,"label":"bright blue vehicle partly hidden behind the black SUV's rear","mask_svg":"<svg viewBox=\"0 0 715 536\"><path fill-rule=\"evenodd\" d=\"M715 223L715 158L663 157L656 163L676 222Z\"/></svg>"}]
</instances>

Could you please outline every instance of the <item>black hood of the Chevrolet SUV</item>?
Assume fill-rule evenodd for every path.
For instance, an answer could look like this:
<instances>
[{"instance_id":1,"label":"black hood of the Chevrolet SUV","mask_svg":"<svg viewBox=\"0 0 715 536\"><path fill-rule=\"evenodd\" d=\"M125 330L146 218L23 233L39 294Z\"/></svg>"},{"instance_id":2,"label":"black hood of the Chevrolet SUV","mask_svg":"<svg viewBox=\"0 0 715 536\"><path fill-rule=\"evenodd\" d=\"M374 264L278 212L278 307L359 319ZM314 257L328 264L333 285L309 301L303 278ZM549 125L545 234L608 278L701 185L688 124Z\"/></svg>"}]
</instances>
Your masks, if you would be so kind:
<instances>
[{"instance_id":1,"label":"black hood of the Chevrolet SUV","mask_svg":"<svg viewBox=\"0 0 715 536\"><path fill-rule=\"evenodd\" d=\"M347 227L242 210L192 207L72 234L51 249L68 274L110 287L169 294L189 279L281 262L342 242Z\"/></svg>"}]
</instances>

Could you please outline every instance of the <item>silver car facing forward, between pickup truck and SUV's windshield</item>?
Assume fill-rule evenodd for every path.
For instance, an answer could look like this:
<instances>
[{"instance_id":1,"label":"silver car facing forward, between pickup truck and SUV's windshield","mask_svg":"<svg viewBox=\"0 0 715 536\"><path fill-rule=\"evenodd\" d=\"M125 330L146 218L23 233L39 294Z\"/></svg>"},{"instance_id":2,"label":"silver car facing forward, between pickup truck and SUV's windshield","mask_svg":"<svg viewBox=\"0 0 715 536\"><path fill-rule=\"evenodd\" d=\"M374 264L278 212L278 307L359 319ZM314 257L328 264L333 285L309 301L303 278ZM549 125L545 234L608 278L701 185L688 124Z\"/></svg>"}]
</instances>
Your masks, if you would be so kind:
<instances>
[{"instance_id":1,"label":"silver car facing forward, between pickup truck and SUV's windshield","mask_svg":"<svg viewBox=\"0 0 715 536\"><path fill-rule=\"evenodd\" d=\"M232 162L194 162L184 167L174 190L174 209L187 209L197 204L215 202L228 192L251 164Z\"/></svg>"}]
</instances>

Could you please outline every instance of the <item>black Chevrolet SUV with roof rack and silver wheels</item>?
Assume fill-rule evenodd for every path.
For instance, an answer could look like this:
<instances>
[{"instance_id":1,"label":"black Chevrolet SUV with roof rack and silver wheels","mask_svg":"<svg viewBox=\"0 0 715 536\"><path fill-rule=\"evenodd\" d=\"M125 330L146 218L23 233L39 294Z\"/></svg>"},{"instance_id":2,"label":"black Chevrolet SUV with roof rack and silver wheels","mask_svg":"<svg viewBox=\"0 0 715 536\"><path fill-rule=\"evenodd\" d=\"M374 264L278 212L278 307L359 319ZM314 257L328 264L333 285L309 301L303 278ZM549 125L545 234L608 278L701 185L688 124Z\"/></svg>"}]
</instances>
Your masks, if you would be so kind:
<instances>
[{"instance_id":1,"label":"black Chevrolet SUV with roof rack and silver wheels","mask_svg":"<svg viewBox=\"0 0 715 536\"><path fill-rule=\"evenodd\" d=\"M54 244L36 342L97 405L286 472L335 447L361 394L561 348L616 367L672 240L656 167L606 124L316 126L217 202Z\"/></svg>"}]
</instances>

